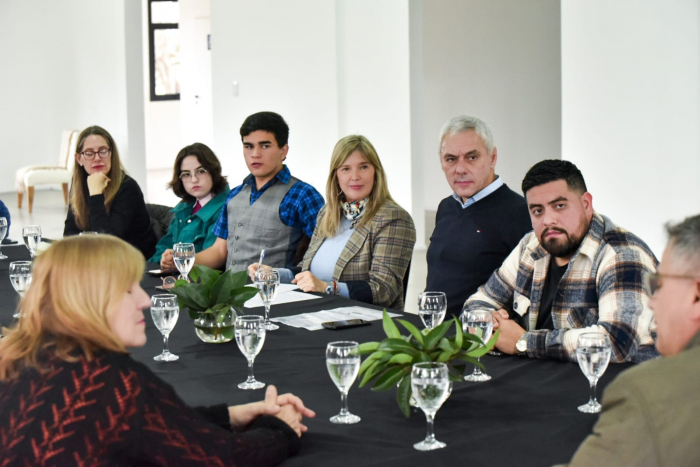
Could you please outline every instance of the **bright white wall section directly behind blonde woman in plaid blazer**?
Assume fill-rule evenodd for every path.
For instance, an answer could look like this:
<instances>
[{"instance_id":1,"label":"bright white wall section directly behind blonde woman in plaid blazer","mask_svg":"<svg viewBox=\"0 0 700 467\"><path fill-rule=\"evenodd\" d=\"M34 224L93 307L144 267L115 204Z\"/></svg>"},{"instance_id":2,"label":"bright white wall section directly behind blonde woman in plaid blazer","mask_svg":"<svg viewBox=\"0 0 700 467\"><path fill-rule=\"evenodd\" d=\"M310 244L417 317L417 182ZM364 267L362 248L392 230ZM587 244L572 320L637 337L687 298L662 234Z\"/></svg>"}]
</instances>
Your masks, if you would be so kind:
<instances>
[{"instance_id":1,"label":"bright white wall section directly behind blonde woman in plaid blazer","mask_svg":"<svg viewBox=\"0 0 700 467\"><path fill-rule=\"evenodd\" d=\"M337 0L336 8L338 137L372 142L392 197L410 212L408 0Z\"/></svg>"}]
</instances>

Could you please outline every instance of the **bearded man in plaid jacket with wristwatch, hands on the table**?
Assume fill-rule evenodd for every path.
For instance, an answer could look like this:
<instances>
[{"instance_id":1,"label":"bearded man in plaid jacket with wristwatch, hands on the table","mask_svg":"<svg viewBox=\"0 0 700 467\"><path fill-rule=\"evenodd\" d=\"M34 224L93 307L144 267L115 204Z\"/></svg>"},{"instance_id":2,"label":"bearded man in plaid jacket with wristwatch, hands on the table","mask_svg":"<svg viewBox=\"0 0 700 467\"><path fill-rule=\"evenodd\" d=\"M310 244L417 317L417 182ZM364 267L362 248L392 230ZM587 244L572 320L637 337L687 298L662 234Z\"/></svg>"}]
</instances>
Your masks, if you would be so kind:
<instances>
[{"instance_id":1,"label":"bearded man in plaid jacket with wristwatch, hands on the table","mask_svg":"<svg viewBox=\"0 0 700 467\"><path fill-rule=\"evenodd\" d=\"M465 312L491 310L501 330L496 347L507 354L575 361L578 337L602 332L613 362L657 357L642 279L657 260L646 243L593 210L571 162L535 164L522 190L533 232L467 299Z\"/></svg>"}]
</instances>

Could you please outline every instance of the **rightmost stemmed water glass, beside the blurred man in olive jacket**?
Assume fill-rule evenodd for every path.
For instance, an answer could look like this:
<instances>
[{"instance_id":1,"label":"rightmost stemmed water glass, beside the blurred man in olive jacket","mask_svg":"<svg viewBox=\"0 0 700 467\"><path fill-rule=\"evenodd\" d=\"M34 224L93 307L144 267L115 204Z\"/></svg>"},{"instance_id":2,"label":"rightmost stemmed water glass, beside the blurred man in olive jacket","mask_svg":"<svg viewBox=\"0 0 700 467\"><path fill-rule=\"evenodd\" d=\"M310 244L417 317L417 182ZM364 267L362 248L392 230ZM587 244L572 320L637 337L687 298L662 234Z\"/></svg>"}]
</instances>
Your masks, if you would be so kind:
<instances>
[{"instance_id":1,"label":"rightmost stemmed water glass, beside the blurred man in olive jacket","mask_svg":"<svg viewBox=\"0 0 700 467\"><path fill-rule=\"evenodd\" d=\"M610 363L610 339L607 334L600 332L587 332L581 334L578 338L576 347L576 360L581 371L588 378L591 384L591 398L587 404L580 406L578 409L584 413L598 413L601 405L595 397L595 387L598 383L598 378L603 376L605 370Z\"/></svg>"}]
</instances>

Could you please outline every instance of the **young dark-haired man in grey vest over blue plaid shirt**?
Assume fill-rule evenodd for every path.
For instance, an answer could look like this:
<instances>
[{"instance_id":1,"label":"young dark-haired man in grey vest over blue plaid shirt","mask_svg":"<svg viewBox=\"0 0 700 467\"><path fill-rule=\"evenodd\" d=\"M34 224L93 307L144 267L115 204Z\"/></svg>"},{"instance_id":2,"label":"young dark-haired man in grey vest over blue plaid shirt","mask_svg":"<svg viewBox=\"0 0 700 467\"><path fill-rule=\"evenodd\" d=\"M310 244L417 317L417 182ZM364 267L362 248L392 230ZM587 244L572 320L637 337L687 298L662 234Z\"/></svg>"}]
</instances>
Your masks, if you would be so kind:
<instances>
[{"instance_id":1,"label":"young dark-haired man in grey vest over blue plaid shirt","mask_svg":"<svg viewBox=\"0 0 700 467\"><path fill-rule=\"evenodd\" d=\"M250 174L226 200L212 231L214 245L195 256L211 268L245 271L265 249L265 264L292 269L298 246L316 227L321 194L294 177L284 161L289 126L281 115L258 112L241 125L243 156Z\"/></svg>"}]
</instances>

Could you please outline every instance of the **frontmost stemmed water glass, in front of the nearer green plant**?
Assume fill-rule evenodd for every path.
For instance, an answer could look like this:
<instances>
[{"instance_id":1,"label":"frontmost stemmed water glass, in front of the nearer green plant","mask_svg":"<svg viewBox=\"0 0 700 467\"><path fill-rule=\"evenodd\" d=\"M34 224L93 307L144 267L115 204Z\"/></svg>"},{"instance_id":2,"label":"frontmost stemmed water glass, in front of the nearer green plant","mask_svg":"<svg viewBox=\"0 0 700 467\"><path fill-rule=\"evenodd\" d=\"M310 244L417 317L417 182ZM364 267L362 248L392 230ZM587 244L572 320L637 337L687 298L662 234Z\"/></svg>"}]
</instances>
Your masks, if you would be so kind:
<instances>
[{"instance_id":1,"label":"frontmost stemmed water glass, in front of the nearer green plant","mask_svg":"<svg viewBox=\"0 0 700 467\"><path fill-rule=\"evenodd\" d=\"M435 439L433 423L435 414L447 400L451 392L450 376L444 363L416 363L411 369L411 390L418 407L425 412L428 420L428 433L425 439L413 447L419 451L432 451L447 446Z\"/></svg>"}]
</instances>

